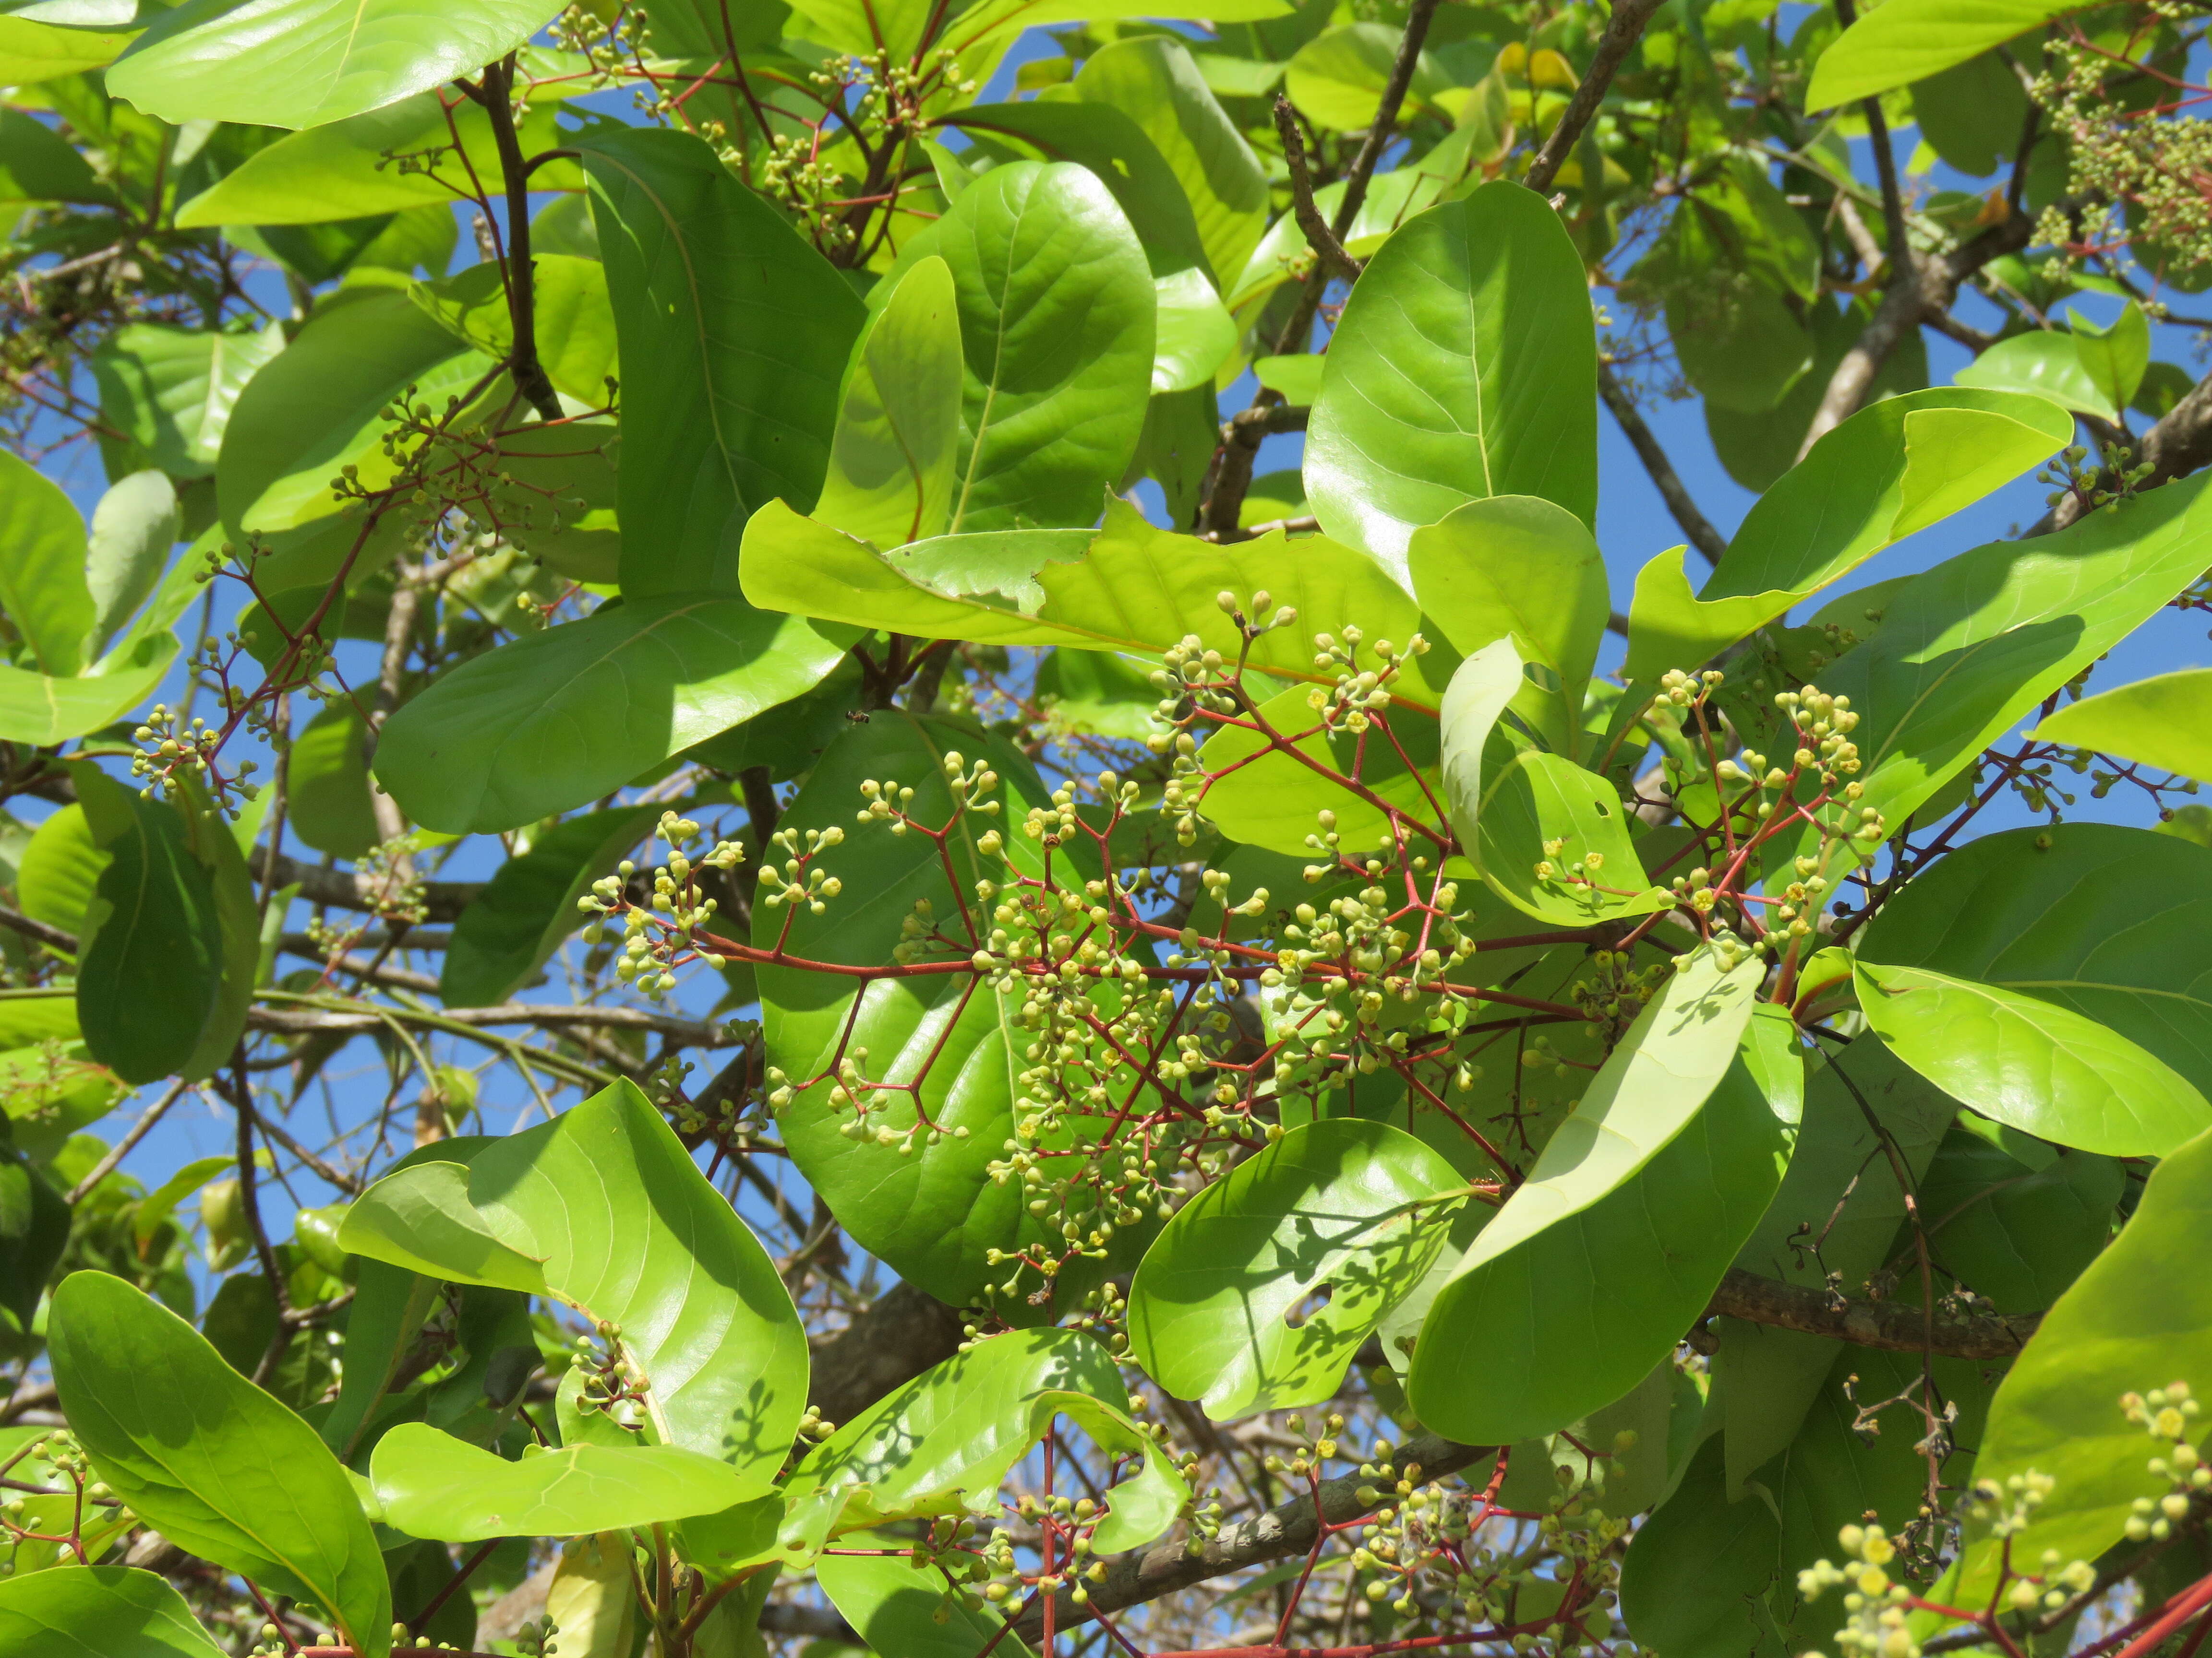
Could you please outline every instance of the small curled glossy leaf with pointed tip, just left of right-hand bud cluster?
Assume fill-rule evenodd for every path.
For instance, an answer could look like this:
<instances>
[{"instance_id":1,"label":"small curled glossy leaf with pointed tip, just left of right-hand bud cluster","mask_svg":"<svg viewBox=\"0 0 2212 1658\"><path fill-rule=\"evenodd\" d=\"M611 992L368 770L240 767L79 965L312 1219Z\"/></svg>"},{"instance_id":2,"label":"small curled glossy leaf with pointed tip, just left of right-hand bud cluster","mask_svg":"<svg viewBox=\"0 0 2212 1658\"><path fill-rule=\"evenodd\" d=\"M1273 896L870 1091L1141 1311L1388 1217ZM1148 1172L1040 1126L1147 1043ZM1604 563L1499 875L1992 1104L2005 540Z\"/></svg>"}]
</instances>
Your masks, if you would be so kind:
<instances>
[{"instance_id":1,"label":"small curled glossy leaf with pointed tip, just left of right-hand bud cluster","mask_svg":"<svg viewBox=\"0 0 2212 1658\"><path fill-rule=\"evenodd\" d=\"M1453 825L1491 891L1542 922L1590 926L1674 904L1644 873L1619 791L1557 754L1515 754L1482 778L1471 814L1453 791ZM1555 842L1564 844L1555 851Z\"/></svg>"}]
</instances>

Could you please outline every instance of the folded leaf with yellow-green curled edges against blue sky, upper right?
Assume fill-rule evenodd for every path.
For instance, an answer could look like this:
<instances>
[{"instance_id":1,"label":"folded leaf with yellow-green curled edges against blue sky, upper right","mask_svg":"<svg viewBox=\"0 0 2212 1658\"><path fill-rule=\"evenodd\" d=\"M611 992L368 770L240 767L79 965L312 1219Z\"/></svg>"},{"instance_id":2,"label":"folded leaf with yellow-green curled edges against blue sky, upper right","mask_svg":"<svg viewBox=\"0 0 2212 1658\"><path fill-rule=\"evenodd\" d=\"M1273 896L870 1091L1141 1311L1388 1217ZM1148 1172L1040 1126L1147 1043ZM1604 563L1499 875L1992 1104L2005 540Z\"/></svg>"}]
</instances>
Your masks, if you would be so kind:
<instances>
[{"instance_id":1,"label":"folded leaf with yellow-green curled edges against blue sky, upper right","mask_svg":"<svg viewBox=\"0 0 2212 1658\"><path fill-rule=\"evenodd\" d=\"M1743 520L1705 590L1690 597L1683 548L1637 575L1630 681L1694 670L1916 531L1971 506L2073 436L2048 398L1911 391L1860 409Z\"/></svg>"}]
</instances>

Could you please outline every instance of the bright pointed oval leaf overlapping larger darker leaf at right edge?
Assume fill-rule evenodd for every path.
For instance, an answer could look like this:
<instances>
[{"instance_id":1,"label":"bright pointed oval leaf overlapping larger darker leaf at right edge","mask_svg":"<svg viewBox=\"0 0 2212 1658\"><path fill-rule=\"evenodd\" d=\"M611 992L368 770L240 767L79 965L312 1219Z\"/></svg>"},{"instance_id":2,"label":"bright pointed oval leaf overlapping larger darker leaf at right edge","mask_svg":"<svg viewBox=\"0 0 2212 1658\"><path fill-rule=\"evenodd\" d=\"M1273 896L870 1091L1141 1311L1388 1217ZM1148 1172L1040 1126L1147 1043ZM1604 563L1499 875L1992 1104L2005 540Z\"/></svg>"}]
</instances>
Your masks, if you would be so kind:
<instances>
[{"instance_id":1,"label":"bright pointed oval leaf overlapping larger darker leaf at right edge","mask_svg":"<svg viewBox=\"0 0 2212 1658\"><path fill-rule=\"evenodd\" d=\"M1860 959L1858 1006L1898 1059L1951 1099L2037 1138L2163 1156L2212 1125L2212 1105L2188 1079L2053 1001Z\"/></svg>"}]
</instances>

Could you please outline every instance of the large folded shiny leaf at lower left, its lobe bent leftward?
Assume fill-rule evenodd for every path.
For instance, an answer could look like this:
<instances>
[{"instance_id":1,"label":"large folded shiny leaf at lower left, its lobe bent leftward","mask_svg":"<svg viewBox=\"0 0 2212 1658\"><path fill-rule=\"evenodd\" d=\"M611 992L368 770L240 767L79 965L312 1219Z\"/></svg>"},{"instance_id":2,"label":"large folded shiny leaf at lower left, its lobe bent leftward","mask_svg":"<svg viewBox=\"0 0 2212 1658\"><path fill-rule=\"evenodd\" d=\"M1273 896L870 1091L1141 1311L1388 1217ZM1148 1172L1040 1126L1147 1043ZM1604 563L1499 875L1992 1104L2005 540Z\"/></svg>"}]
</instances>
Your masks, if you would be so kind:
<instances>
[{"instance_id":1,"label":"large folded shiny leaf at lower left, its lobe bent leftward","mask_svg":"<svg viewBox=\"0 0 2212 1658\"><path fill-rule=\"evenodd\" d=\"M385 1176L338 1240L409 1271L511 1289L535 1289L526 1280L542 1262L544 1293L619 1326L659 1444L763 1477L790 1452L807 1391L792 1298L628 1081L480 1143L465 1172L420 1163Z\"/></svg>"}]
</instances>

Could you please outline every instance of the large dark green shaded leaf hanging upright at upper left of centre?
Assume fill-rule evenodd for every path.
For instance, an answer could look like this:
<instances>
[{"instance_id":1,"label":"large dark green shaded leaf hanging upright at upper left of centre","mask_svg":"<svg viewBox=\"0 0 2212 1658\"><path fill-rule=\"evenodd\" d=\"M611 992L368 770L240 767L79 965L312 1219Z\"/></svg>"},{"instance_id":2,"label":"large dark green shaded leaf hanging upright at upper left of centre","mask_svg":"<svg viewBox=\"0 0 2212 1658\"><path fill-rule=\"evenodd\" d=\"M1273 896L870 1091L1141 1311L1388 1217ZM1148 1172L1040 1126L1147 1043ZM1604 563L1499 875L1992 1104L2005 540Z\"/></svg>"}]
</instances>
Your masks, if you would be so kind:
<instances>
[{"instance_id":1,"label":"large dark green shaded leaf hanging upright at upper left of centre","mask_svg":"<svg viewBox=\"0 0 2212 1658\"><path fill-rule=\"evenodd\" d=\"M593 137L584 170L628 365L622 590L732 592L745 517L821 493L860 298L688 133Z\"/></svg>"}]
</instances>

